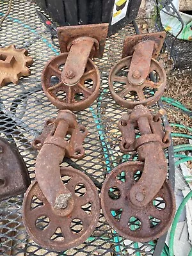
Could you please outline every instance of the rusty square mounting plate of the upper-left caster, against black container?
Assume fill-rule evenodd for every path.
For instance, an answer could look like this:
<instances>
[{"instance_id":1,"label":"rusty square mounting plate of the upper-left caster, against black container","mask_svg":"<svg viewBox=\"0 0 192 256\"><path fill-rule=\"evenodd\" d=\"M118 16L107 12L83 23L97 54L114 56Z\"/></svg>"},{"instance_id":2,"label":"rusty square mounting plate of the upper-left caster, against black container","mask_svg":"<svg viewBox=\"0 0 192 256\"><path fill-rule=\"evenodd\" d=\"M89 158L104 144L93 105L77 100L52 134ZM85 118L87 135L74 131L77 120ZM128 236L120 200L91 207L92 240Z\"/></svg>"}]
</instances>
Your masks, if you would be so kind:
<instances>
[{"instance_id":1,"label":"rusty square mounting plate of the upper-left caster, against black container","mask_svg":"<svg viewBox=\"0 0 192 256\"><path fill-rule=\"evenodd\" d=\"M60 42L60 50L67 52L68 44L80 36L89 36L95 38L99 42L99 48L95 49L94 58L101 58L106 44L109 24L91 24L81 26L67 26L58 28L58 37Z\"/></svg>"}]
</instances>

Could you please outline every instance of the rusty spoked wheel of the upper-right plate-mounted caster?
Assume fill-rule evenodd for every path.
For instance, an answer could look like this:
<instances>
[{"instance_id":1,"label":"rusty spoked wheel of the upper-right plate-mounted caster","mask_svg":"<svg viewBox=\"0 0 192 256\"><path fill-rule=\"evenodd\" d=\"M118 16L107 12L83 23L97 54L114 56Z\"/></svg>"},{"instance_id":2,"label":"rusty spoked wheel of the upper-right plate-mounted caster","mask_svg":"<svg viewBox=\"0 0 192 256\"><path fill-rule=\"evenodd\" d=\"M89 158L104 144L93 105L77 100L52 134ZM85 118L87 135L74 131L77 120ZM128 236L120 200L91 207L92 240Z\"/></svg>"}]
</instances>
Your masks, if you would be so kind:
<instances>
[{"instance_id":1,"label":"rusty spoked wheel of the upper-right plate-mounted caster","mask_svg":"<svg viewBox=\"0 0 192 256\"><path fill-rule=\"evenodd\" d=\"M160 99L166 85L164 68L158 61L151 59L149 73L157 75L157 83L150 81L149 76L142 84L131 84L127 79L132 56L119 61L109 74L109 90L113 99L125 108L134 108L138 104L152 106ZM154 95L150 90L155 89Z\"/></svg>"}]
</instances>

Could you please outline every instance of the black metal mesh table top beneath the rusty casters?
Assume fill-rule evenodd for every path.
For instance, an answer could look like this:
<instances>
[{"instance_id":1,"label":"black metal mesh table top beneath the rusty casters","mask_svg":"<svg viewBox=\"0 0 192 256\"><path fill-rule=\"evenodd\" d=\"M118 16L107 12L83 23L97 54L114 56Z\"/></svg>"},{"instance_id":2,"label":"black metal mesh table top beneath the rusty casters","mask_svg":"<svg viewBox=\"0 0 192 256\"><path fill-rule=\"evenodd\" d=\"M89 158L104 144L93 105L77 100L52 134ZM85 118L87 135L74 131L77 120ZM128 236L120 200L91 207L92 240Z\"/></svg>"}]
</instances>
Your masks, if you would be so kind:
<instances>
[{"instance_id":1,"label":"black metal mesh table top beneath the rusty casters","mask_svg":"<svg viewBox=\"0 0 192 256\"><path fill-rule=\"evenodd\" d=\"M1 16L7 8L7 3L0 1ZM49 33L36 15L36 8L35 4L24 0L13 1L12 12L3 23L0 42L2 47L15 44L17 48L27 48L34 60L31 76L20 79L18 85L8 84L0 90L1 136L17 145L31 180L35 179L38 154L31 147L31 141L40 134L45 120L58 113L42 91L40 77L46 61L59 54L59 50L51 44ZM108 38L103 58L95 60L101 76L100 95L90 108L76 113L78 122L88 129L83 144L86 156L81 161L65 159L61 164L69 164L89 175L99 193L108 172L124 161L136 159L136 154L120 152L121 134L117 122L127 110L115 103L108 89L109 70L120 60L124 36L132 33L134 28L129 25ZM22 223L22 198L16 196L0 204L0 255L153 255L154 243L134 243L118 236L102 212L95 232L81 246L67 252L44 250L26 233Z\"/></svg>"}]
</instances>

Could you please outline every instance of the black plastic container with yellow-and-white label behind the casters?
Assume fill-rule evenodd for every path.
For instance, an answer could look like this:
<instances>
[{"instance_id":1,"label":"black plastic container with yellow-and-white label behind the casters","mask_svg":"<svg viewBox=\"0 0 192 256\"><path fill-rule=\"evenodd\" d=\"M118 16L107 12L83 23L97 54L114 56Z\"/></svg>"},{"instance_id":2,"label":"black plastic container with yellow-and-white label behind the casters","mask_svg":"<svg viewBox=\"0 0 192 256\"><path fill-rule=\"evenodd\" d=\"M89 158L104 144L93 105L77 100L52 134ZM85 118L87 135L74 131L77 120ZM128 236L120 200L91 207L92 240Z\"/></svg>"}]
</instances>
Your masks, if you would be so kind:
<instances>
[{"instance_id":1,"label":"black plastic container with yellow-and-white label behind the casters","mask_svg":"<svg viewBox=\"0 0 192 256\"><path fill-rule=\"evenodd\" d=\"M35 0L60 26L109 23L116 33L138 14L141 0Z\"/></svg>"}]
</instances>

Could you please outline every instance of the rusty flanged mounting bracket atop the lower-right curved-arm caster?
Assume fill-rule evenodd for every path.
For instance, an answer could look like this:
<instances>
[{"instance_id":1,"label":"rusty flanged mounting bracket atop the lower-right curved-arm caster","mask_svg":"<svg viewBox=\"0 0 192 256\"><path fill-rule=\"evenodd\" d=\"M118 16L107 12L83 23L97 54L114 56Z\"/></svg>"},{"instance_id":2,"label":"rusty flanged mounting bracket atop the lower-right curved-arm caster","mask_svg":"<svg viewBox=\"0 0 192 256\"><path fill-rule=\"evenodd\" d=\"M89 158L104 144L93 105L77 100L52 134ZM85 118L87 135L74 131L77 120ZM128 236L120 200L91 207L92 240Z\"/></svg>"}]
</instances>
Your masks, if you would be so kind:
<instances>
[{"instance_id":1,"label":"rusty flanged mounting bracket atop the lower-right curved-arm caster","mask_svg":"<svg viewBox=\"0 0 192 256\"><path fill-rule=\"evenodd\" d=\"M120 132L122 132L120 150L127 154L140 147L144 140L146 140L146 142L157 140L161 143L162 148L168 148L171 143L170 134L168 137L165 136L166 132L163 131L163 127L161 126L161 113L165 115L164 109L160 109L157 115L152 115L147 108L138 105L134 108L134 113L124 114L118 122L118 128ZM142 117L147 118L143 123L141 123ZM143 136L136 138L136 130L139 124L140 132ZM147 128L149 132L146 131ZM144 129L145 131L143 131ZM166 129L170 132L170 127L166 127ZM145 136L145 134L147 134L147 136ZM164 138L166 138L165 142L163 142Z\"/></svg>"}]
</instances>

